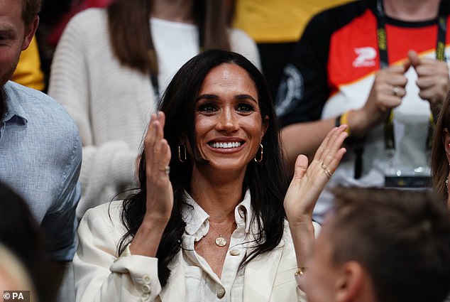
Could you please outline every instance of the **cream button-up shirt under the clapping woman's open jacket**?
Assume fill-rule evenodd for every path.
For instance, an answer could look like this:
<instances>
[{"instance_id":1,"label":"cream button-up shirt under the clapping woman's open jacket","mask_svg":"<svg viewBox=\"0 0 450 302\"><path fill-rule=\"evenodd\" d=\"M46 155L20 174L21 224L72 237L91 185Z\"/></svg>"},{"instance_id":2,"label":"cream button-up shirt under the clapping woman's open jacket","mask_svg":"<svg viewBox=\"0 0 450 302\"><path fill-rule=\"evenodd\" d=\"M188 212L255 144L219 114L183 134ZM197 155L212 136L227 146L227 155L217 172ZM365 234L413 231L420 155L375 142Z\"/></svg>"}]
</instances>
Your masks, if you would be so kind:
<instances>
[{"instance_id":1,"label":"cream button-up shirt under the clapping woman's open jacket","mask_svg":"<svg viewBox=\"0 0 450 302\"><path fill-rule=\"evenodd\" d=\"M247 190L241 203L234 209L237 227L231 234L231 240L227 246L228 252L221 278L212 271L207 261L194 249L194 243L209 232L209 215L187 193L186 200L187 205L183 214L187 225L185 234L182 236L186 301L242 301L243 271L238 271L238 267L250 245L248 243L252 218L250 192Z\"/></svg>"}]
</instances>

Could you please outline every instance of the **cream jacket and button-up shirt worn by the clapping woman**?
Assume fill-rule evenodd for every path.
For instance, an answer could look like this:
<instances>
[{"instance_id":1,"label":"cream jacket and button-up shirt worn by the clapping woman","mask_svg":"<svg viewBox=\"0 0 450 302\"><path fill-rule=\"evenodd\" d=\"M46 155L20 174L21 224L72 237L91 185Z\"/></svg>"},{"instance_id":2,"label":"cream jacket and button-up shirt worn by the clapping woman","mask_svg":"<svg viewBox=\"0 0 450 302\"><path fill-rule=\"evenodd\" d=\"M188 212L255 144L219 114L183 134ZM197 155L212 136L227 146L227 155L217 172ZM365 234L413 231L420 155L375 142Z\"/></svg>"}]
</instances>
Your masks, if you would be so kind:
<instances>
[{"instance_id":1,"label":"cream jacket and button-up shirt worn by the clapping woman","mask_svg":"<svg viewBox=\"0 0 450 302\"><path fill-rule=\"evenodd\" d=\"M182 249L168 265L168 283L161 288L158 259L133 255L129 247L119 256L117 246L126 234L121 221L123 203L114 201L87 210L79 224L79 244L73 260L77 302L299 302L305 296L295 281L297 260L285 222L283 237L275 249L252 259L238 270L252 248L250 194L236 206L236 230L219 279L194 251L194 242L209 232L208 215L192 198L183 211L187 226ZM319 225L314 224L316 232ZM224 247L226 248L226 247Z\"/></svg>"}]
</instances>

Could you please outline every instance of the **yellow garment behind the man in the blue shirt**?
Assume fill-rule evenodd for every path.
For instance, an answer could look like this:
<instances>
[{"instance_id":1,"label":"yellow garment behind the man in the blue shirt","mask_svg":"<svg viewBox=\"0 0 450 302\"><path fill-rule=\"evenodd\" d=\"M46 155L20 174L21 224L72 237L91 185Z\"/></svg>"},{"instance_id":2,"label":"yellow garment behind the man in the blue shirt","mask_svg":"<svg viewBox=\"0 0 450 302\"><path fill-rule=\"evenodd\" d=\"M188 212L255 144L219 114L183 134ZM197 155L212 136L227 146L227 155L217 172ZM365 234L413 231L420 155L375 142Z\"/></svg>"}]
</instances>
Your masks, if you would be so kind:
<instances>
[{"instance_id":1,"label":"yellow garment behind the man in the blue shirt","mask_svg":"<svg viewBox=\"0 0 450 302\"><path fill-rule=\"evenodd\" d=\"M38 43L35 37L28 48L22 51L11 81L35 90L44 89L44 74L40 70Z\"/></svg>"}]
</instances>

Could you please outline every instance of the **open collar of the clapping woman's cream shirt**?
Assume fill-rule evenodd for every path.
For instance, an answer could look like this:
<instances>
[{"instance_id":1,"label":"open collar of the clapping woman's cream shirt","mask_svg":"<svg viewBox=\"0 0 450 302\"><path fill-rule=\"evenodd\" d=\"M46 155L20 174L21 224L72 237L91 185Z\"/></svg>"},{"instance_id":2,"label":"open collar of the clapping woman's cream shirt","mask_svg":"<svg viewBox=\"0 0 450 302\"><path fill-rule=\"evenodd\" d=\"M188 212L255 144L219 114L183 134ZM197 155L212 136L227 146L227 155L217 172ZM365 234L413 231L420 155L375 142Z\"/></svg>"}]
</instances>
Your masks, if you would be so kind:
<instances>
[{"instance_id":1,"label":"open collar of the clapping woman's cream shirt","mask_svg":"<svg viewBox=\"0 0 450 302\"><path fill-rule=\"evenodd\" d=\"M209 215L200 207L195 200L185 191L185 207L182 210L183 219L186 222L186 233L194 235L195 237L202 237L207 233L209 228ZM236 225L245 224L246 233L250 230L250 222L253 212L251 210L251 195L250 190L246 190L241 203L238 203L234 208L234 218ZM199 232L202 231L202 232ZM201 234L199 234L201 233ZM198 238L199 239L199 238Z\"/></svg>"}]
</instances>

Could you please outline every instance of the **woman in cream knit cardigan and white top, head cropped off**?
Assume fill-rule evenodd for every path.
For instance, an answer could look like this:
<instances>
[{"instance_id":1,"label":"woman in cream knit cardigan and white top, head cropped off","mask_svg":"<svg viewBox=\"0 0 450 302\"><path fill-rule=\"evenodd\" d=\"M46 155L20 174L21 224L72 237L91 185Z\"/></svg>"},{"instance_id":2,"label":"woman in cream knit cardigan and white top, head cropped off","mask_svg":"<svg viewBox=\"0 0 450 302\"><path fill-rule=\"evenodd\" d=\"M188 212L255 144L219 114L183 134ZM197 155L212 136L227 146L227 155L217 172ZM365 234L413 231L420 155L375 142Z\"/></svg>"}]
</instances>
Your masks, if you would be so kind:
<instances>
[{"instance_id":1,"label":"woman in cream knit cardigan and white top, head cropped off","mask_svg":"<svg viewBox=\"0 0 450 302\"><path fill-rule=\"evenodd\" d=\"M219 48L259 65L256 44L228 27L222 0L115 0L67 24L48 94L75 119L83 144L77 215L136 186L136 158L160 95L202 50Z\"/></svg>"}]
</instances>

